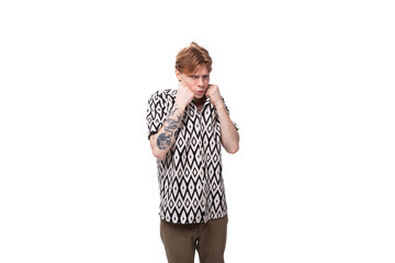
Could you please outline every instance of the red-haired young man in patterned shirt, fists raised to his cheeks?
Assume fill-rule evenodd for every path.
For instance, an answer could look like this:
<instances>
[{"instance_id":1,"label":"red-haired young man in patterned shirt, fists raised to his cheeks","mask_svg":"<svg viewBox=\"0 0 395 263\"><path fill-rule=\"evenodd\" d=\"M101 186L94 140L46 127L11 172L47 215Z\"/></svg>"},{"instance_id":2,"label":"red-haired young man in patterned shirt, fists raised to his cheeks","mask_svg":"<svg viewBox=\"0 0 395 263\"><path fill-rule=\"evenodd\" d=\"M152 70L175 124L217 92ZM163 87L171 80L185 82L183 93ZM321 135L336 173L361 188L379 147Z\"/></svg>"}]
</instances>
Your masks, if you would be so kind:
<instances>
[{"instance_id":1,"label":"red-haired young man in patterned shirt, fists raised to his cheeks","mask_svg":"<svg viewBox=\"0 0 395 263\"><path fill-rule=\"evenodd\" d=\"M157 158L160 236L169 263L224 262L227 206L221 147L235 153L239 135L219 89L210 84L212 59L195 43L176 59L178 90L148 101L149 141Z\"/></svg>"}]
</instances>

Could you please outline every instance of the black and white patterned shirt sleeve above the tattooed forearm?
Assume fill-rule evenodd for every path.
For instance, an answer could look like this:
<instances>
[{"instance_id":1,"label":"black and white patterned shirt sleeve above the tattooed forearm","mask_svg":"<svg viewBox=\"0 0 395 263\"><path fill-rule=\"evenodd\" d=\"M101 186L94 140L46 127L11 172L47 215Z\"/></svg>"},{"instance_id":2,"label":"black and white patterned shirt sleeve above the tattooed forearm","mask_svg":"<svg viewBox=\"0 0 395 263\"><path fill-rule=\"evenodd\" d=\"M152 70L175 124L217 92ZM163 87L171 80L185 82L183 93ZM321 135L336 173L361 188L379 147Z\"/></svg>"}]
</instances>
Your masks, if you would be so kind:
<instances>
[{"instance_id":1,"label":"black and white patterned shirt sleeve above the tattooed forearm","mask_svg":"<svg viewBox=\"0 0 395 263\"><path fill-rule=\"evenodd\" d=\"M147 107L147 127L148 127L148 139L153 134L158 133L162 126L166 114L166 100L162 92L155 92L148 100Z\"/></svg>"}]
</instances>

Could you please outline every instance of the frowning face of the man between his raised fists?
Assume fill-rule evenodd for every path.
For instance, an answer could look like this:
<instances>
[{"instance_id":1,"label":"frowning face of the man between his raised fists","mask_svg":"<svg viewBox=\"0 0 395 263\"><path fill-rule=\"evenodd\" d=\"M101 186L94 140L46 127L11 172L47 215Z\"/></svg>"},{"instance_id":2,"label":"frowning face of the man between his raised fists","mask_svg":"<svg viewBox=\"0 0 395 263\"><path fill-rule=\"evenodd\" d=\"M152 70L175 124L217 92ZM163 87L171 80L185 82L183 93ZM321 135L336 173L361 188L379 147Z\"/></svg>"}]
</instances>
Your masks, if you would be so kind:
<instances>
[{"instance_id":1,"label":"frowning face of the man between his raised fists","mask_svg":"<svg viewBox=\"0 0 395 263\"><path fill-rule=\"evenodd\" d=\"M199 66L194 72L181 73L177 70L176 75L177 78L192 91L195 100L201 100L204 98L210 82L210 72L205 65Z\"/></svg>"}]
</instances>

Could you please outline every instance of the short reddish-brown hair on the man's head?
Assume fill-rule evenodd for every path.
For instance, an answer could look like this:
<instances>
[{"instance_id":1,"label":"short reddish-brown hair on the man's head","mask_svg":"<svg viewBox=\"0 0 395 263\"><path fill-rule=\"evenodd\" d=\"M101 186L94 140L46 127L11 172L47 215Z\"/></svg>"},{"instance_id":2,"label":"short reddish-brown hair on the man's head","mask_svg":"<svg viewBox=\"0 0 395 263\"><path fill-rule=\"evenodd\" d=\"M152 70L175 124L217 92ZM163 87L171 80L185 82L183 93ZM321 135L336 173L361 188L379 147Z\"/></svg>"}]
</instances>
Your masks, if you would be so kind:
<instances>
[{"instance_id":1,"label":"short reddish-brown hair on the man's head","mask_svg":"<svg viewBox=\"0 0 395 263\"><path fill-rule=\"evenodd\" d=\"M211 72L213 60L208 52L192 42L190 46L182 48L176 57L176 69L181 73L192 73L200 65L204 64Z\"/></svg>"}]
</instances>

